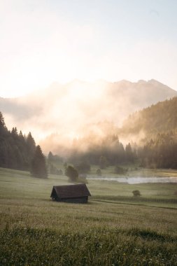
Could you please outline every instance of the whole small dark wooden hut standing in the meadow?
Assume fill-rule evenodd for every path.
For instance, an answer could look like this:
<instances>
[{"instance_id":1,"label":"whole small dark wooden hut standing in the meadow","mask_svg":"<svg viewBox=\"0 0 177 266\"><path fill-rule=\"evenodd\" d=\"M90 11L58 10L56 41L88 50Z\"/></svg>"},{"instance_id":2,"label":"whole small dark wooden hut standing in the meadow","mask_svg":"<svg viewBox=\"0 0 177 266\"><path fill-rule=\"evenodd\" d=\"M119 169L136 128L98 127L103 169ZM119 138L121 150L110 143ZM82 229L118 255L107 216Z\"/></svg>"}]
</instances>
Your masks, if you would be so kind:
<instances>
[{"instance_id":1,"label":"whole small dark wooden hut standing in the meadow","mask_svg":"<svg viewBox=\"0 0 177 266\"><path fill-rule=\"evenodd\" d=\"M87 203L89 190L85 184L53 186L50 197L58 202Z\"/></svg>"}]
</instances>

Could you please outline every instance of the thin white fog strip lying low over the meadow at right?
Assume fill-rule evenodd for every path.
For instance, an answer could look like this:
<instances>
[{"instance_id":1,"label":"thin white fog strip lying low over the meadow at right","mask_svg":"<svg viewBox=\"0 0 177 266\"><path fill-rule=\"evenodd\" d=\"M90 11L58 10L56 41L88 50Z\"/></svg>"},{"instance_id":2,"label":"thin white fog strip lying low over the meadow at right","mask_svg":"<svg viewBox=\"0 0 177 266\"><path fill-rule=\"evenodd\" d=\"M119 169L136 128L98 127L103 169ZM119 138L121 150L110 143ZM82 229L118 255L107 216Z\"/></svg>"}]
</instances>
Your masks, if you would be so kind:
<instances>
[{"instance_id":1,"label":"thin white fog strip lying low over the meadow at right","mask_svg":"<svg viewBox=\"0 0 177 266\"><path fill-rule=\"evenodd\" d=\"M87 176L87 179L117 181L120 183L177 183L177 177L109 177L109 176Z\"/></svg>"}]
</instances>

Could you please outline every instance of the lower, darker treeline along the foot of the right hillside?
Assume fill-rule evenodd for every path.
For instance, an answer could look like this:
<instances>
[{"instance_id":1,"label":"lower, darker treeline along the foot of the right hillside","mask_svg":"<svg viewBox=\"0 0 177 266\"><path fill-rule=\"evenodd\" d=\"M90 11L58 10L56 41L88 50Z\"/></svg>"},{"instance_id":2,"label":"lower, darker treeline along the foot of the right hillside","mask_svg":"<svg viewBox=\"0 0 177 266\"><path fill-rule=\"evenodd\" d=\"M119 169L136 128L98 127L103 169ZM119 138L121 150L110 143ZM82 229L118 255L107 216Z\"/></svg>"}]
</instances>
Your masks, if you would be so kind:
<instances>
[{"instance_id":1,"label":"lower, darker treeline along the foot of the right hillside","mask_svg":"<svg viewBox=\"0 0 177 266\"><path fill-rule=\"evenodd\" d=\"M87 151L73 151L68 161L75 165L76 169L78 162L98 165L100 169L135 162L141 167L177 169L176 130L154 134L153 138L146 139L143 146L129 143L124 147L117 136L108 139L100 145L88 148Z\"/></svg>"}]
</instances>

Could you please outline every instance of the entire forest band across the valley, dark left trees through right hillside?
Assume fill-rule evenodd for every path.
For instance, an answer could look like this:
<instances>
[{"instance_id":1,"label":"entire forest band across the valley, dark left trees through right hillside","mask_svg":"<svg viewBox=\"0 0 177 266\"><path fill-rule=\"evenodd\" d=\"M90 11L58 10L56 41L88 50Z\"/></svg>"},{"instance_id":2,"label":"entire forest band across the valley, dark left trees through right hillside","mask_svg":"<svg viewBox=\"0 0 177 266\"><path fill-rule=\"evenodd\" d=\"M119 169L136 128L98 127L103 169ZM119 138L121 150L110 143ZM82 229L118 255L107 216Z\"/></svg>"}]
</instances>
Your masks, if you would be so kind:
<instances>
[{"instance_id":1,"label":"entire forest band across the valley, dark left trees through right hillside","mask_svg":"<svg viewBox=\"0 0 177 266\"><path fill-rule=\"evenodd\" d=\"M120 130L106 132L99 141L91 142L89 136L75 139L67 158L62 158L59 153L52 155L50 151L49 172L62 174L62 170L55 167L55 161L71 163L76 166L78 172L80 168L89 171L90 165L98 165L100 169L112 165L119 169L119 166L134 163L141 167L177 169L176 114L177 97L174 97L134 113L127 118ZM142 130L145 132L143 139L139 137ZM136 142L132 141L131 134L138 136ZM121 137L127 139L127 144L125 141L124 145L122 144ZM80 148L82 146L86 148ZM38 161L40 156L42 162ZM0 167L30 170L34 174L31 166L37 168L37 161L45 169L45 173L41 175L46 177L47 170L41 147L36 147L30 132L25 136L21 131L18 133L16 127L9 131L0 112Z\"/></svg>"}]
</instances>

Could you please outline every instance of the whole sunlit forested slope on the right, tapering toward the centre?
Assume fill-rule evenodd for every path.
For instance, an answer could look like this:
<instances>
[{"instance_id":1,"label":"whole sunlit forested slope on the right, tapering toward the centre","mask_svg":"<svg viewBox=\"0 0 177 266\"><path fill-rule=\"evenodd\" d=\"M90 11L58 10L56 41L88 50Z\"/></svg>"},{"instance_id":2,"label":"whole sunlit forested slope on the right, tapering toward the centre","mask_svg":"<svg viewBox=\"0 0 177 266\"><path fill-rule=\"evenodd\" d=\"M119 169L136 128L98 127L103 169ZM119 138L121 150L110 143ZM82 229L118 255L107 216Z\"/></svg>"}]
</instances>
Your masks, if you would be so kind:
<instances>
[{"instance_id":1,"label":"whole sunlit forested slope on the right, tapering toward the centre","mask_svg":"<svg viewBox=\"0 0 177 266\"><path fill-rule=\"evenodd\" d=\"M123 146L118 136L128 144ZM82 143L77 140L77 146ZM117 134L108 134L87 151L76 149L69 160L86 160L101 168L136 162L141 167L177 169L177 97L132 114Z\"/></svg>"}]
</instances>

